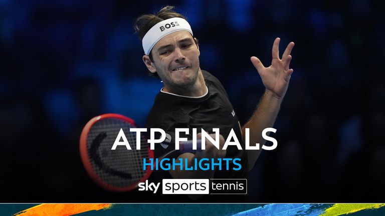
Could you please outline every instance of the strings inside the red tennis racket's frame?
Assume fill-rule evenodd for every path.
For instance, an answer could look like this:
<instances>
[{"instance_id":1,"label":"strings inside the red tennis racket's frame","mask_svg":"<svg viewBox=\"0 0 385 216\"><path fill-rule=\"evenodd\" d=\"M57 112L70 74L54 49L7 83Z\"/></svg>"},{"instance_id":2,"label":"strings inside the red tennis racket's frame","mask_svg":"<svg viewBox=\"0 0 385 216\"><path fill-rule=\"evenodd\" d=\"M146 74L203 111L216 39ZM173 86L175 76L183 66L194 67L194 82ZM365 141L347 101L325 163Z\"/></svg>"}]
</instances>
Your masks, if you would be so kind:
<instances>
[{"instance_id":1,"label":"strings inside the red tennis racket's frame","mask_svg":"<svg viewBox=\"0 0 385 216\"><path fill-rule=\"evenodd\" d=\"M143 158L149 157L148 143L141 137L140 150L136 149L136 132L134 127L119 118L105 118L95 122L87 136L87 150L91 165L96 174L107 184L127 187L137 183L146 173L143 170ZM118 145L111 150L115 139L123 129L131 150L125 145Z\"/></svg>"}]
</instances>

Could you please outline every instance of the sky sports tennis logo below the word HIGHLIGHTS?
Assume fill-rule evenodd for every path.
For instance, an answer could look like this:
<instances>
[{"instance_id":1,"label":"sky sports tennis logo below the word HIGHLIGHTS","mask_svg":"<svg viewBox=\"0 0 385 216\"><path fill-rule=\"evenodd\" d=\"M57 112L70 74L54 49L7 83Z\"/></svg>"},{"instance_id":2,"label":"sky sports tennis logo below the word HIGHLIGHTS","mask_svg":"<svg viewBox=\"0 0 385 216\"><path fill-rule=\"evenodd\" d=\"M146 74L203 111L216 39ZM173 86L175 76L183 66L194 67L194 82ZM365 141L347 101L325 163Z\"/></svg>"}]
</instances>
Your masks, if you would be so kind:
<instances>
[{"instance_id":1,"label":"sky sports tennis logo below the word HIGHLIGHTS","mask_svg":"<svg viewBox=\"0 0 385 216\"><path fill-rule=\"evenodd\" d=\"M162 179L163 194L246 194L247 179L215 178L215 179ZM141 182L140 191L156 193L160 182Z\"/></svg>"}]
</instances>

